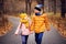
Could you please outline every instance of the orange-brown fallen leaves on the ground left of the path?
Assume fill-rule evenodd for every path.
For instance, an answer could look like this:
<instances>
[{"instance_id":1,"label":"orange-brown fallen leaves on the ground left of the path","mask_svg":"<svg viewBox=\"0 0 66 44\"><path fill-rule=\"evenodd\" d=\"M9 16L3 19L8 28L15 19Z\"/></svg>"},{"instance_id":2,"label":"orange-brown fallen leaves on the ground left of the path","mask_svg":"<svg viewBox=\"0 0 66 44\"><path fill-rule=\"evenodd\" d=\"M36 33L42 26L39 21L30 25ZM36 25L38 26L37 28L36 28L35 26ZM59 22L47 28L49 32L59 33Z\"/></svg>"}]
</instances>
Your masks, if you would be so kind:
<instances>
[{"instance_id":1,"label":"orange-brown fallen leaves on the ground left of the path","mask_svg":"<svg viewBox=\"0 0 66 44\"><path fill-rule=\"evenodd\" d=\"M4 26L0 26L0 36L6 35L8 32L11 31L12 23L8 22L8 24L4 24Z\"/></svg>"}]
</instances>

